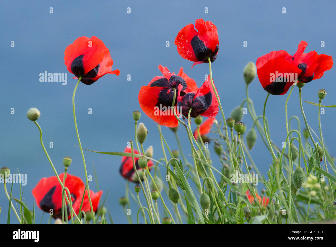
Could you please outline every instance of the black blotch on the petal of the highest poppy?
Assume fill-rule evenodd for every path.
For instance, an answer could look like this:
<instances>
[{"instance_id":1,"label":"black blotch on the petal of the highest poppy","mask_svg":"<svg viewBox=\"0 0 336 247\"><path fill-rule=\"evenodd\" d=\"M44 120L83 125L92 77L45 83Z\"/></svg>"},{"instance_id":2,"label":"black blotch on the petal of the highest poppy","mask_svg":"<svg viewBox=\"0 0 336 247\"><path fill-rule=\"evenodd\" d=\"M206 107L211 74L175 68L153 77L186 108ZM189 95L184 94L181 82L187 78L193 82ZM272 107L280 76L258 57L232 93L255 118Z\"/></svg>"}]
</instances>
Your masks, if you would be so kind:
<instances>
[{"instance_id":1,"label":"black blotch on the petal of the highest poppy","mask_svg":"<svg viewBox=\"0 0 336 247\"><path fill-rule=\"evenodd\" d=\"M211 63L216 60L219 46L216 45L216 49L214 51L210 50L209 47L206 47L204 42L200 40L200 38L196 35L192 38L190 42L193 47L196 58L204 63L208 63L208 57L210 57Z\"/></svg>"}]
</instances>

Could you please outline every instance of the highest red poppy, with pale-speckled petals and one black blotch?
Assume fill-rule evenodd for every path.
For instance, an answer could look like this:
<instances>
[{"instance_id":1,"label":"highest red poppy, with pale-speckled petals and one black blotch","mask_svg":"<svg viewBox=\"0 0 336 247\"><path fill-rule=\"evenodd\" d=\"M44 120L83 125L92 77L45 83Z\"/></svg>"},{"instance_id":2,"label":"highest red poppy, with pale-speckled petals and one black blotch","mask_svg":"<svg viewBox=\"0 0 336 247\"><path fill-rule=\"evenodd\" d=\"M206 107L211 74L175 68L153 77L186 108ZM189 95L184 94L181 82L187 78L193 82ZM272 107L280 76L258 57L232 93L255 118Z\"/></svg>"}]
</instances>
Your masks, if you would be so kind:
<instances>
[{"instance_id":1,"label":"highest red poppy, with pale-speckled petals and one black blotch","mask_svg":"<svg viewBox=\"0 0 336 247\"><path fill-rule=\"evenodd\" d=\"M195 62L194 65L209 63L208 57L212 63L219 49L217 28L212 22L203 19L197 19L195 27L197 31L193 24L189 24L178 32L175 38L178 54Z\"/></svg>"}]
</instances>

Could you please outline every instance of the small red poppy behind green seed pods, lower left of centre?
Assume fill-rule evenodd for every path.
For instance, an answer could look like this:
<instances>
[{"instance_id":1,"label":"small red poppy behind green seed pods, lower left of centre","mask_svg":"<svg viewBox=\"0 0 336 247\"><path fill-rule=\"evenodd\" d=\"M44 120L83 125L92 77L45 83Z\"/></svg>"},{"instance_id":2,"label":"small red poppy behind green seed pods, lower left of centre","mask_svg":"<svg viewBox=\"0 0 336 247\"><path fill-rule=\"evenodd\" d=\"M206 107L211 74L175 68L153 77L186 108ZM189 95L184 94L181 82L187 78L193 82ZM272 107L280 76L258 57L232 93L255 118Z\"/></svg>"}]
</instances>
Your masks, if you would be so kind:
<instances>
[{"instance_id":1,"label":"small red poppy behind green seed pods, lower left of centre","mask_svg":"<svg viewBox=\"0 0 336 247\"><path fill-rule=\"evenodd\" d=\"M125 148L124 152L125 153L132 153L132 150L131 150L131 148ZM139 154L138 151L135 150L135 149L133 149L133 153L134 154ZM135 167L138 170L140 179L142 181L143 176L142 176L142 172L140 172L140 171L142 171L142 169L138 164L138 160L139 160L139 158L134 157ZM151 170L153 165L154 165L153 162L150 160L147 164L148 170ZM123 158L121 160L121 165L120 165L120 168L119 168L119 172L124 178L126 178L126 179L128 179L132 182L135 182L135 183L139 182L139 179L138 179L138 177L137 177L137 175L134 171L132 157L123 156Z\"/></svg>"}]
</instances>

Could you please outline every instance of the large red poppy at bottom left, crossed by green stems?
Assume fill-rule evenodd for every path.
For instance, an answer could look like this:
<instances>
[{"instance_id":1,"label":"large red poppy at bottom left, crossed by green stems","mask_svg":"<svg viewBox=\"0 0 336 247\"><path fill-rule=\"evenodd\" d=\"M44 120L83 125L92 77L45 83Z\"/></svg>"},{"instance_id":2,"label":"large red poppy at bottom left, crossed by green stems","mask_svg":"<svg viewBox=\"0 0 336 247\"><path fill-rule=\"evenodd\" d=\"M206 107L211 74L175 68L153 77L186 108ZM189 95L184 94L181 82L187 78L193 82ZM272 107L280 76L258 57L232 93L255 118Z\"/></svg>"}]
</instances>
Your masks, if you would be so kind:
<instances>
[{"instance_id":1,"label":"large red poppy at bottom left, crossed by green stems","mask_svg":"<svg viewBox=\"0 0 336 247\"><path fill-rule=\"evenodd\" d=\"M64 173L59 174L59 178L63 181ZM67 187L71 194L72 207L76 214L79 213L79 208L81 205L85 184L79 177L70 175L67 173L67 178L65 180L65 187ZM52 217L54 219L62 217L62 187L58 182L56 176L44 177L42 178L32 191L35 198L37 206L44 212L53 211ZM98 203L101 197L102 191L94 193L90 190L90 196L92 200L93 210L96 212L98 208ZM67 202L66 202L67 203ZM88 200L87 192L84 196L84 201L82 205L82 210L84 212L90 211L90 203ZM68 217L71 218L70 206L67 205Z\"/></svg>"}]
</instances>

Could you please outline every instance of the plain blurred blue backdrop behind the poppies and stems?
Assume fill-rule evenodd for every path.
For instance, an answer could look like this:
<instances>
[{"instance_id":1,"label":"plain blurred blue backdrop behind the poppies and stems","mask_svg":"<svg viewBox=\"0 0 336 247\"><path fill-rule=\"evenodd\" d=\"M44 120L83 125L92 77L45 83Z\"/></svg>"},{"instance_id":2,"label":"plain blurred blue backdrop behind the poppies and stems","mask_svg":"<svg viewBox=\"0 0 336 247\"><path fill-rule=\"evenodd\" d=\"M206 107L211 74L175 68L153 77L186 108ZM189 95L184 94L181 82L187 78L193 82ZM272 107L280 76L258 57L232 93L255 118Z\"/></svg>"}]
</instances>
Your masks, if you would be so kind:
<instances>
[{"instance_id":1,"label":"plain blurred blue backdrop behind the poppies and stems","mask_svg":"<svg viewBox=\"0 0 336 247\"><path fill-rule=\"evenodd\" d=\"M272 50L282 49L294 54L301 40L308 43L306 52L316 50L319 54L335 57L335 6L335 1L306 0L4 1L0 10L0 166L7 166L11 171L18 168L21 173L27 173L24 198L32 209L32 189L40 178L54 175L40 146L38 129L26 117L27 110L36 107L41 112L38 123L43 130L43 141L57 171L61 173L63 170L63 157L70 156L73 163L69 173L84 180L80 150L75 147L78 142L71 101L77 80L72 79L64 65L64 50L77 37L94 35L101 39L114 60L112 70L120 70L120 76L106 75L93 85L79 85L75 100L82 145L96 151L123 151L127 141L134 139L132 112L141 110L137 100L139 89L154 76L161 75L158 65L167 66L176 73L183 67L198 86L204 82L205 74L209 73L207 64L190 69L193 63L177 53L174 40L181 28L189 23L194 24L197 18L210 20L217 26L219 53L212 64L213 78L228 117L230 111L245 98L242 70L249 61L255 63L259 56ZM49 7L53 7L53 14L49 13ZM127 7L131 7L131 14L126 13ZM205 7L209 8L208 14L204 13ZM286 14L282 13L282 7L286 7ZM11 41L15 42L15 47L10 46ZM170 47L166 47L166 41L170 42ZM247 41L247 47L243 47L243 41ZM325 41L325 47L321 47L321 41ZM40 82L39 74L46 70L51 73L67 72L68 84ZM131 81L127 81L128 74ZM303 100L318 102L317 91L324 88L328 95L323 104L335 104L334 78L333 68L325 72L321 79L310 82L303 88ZM249 93L257 115L261 115L266 92L257 78L250 84ZM266 108L271 139L278 146L286 136L286 97L271 95ZM318 133L318 108L303 104L309 125ZM298 115L303 129L297 88L288 106L288 115ZM14 115L10 114L11 108L15 109ZM92 108L92 115L88 114L88 108ZM332 108L325 108L325 115L321 116L325 143L329 149L335 146L334 116L335 110ZM245 115L242 121L248 129L251 127L249 115ZM149 129L144 148L153 145L153 158L161 158L156 124L143 113L140 122ZM172 132L163 127L163 134L170 147L177 149ZM179 129L179 135L187 153L190 146L184 129ZM53 141L53 148L49 148L50 141ZM210 151L214 166L220 168L212 147ZM121 157L87 151L84 155L91 175L92 162L95 163L100 189L104 191L102 200L109 191L106 205L114 222L127 223L118 202L119 197L124 196L126 184L118 170ZM260 136L251 155L261 172L265 173L271 156L266 152ZM161 170L164 171L163 167ZM90 183L90 189L96 191L95 182ZM18 184L14 184L13 195L19 197ZM166 202L172 210L170 202ZM131 204L135 221L136 207L133 201ZM0 207L0 223L5 223L8 200L2 188ZM37 222L41 216L42 211L36 207ZM43 222L47 222L47 219L48 215L44 215ZM11 222L17 222L13 212Z\"/></svg>"}]
</instances>

